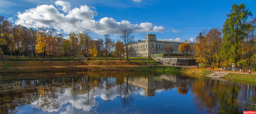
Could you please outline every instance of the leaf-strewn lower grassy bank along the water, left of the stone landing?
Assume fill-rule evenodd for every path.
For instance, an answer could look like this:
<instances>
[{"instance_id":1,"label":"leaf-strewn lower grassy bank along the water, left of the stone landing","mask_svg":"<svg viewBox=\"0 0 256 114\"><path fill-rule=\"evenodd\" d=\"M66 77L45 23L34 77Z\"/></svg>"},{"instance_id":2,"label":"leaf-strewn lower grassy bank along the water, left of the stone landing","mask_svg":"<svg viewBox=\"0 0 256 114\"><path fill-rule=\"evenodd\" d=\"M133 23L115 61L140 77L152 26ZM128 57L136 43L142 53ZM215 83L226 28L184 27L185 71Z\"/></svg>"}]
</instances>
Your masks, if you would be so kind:
<instances>
[{"instance_id":1,"label":"leaf-strewn lower grassy bank along the water, left of the stone landing","mask_svg":"<svg viewBox=\"0 0 256 114\"><path fill-rule=\"evenodd\" d=\"M134 63L134 62L133 62ZM136 63L138 64L138 63ZM190 74L206 75L211 71L172 67L172 66L40 66L40 67L2 67L0 73L17 72L54 72L54 71L82 71L82 70L124 70L124 71L160 71L160 72L183 72Z\"/></svg>"}]
</instances>

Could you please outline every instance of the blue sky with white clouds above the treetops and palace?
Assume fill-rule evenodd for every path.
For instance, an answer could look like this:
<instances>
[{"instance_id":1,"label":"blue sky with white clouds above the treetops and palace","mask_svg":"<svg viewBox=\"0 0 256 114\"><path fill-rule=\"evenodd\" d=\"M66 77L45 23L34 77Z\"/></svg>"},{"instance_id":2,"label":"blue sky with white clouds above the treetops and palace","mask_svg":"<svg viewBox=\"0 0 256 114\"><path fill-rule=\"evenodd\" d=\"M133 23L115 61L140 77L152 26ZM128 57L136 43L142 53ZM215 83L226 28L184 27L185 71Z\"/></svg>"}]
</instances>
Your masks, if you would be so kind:
<instances>
[{"instance_id":1,"label":"blue sky with white clouds above the treetops and palace","mask_svg":"<svg viewBox=\"0 0 256 114\"><path fill-rule=\"evenodd\" d=\"M255 15L255 0L0 0L0 15L27 27L54 27L64 36L88 29L92 38L110 34L117 40L128 29L135 40L156 34L183 41L222 27L235 2Z\"/></svg>"}]
</instances>

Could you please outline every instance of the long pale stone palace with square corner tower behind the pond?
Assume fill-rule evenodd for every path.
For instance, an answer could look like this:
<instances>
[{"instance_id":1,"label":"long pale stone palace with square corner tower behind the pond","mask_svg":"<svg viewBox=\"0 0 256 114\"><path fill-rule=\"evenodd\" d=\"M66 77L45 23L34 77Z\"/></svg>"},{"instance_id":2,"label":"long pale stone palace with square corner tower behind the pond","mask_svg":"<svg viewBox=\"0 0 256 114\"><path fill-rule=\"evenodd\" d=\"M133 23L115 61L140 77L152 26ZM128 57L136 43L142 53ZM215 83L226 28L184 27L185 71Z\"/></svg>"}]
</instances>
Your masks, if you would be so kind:
<instances>
[{"instance_id":1,"label":"long pale stone palace with square corner tower behind the pond","mask_svg":"<svg viewBox=\"0 0 256 114\"><path fill-rule=\"evenodd\" d=\"M188 43L194 45L191 41L171 41L171 40L157 40L156 34L146 34L145 41L138 40L138 42L132 41L129 46L134 47L134 50L130 52L129 56L145 56L150 57L151 54L166 53L164 52L164 47L166 45L173 46L173 54L180 54L178 51L179 45L183 43Z\"/></svg>"}]
</instances>

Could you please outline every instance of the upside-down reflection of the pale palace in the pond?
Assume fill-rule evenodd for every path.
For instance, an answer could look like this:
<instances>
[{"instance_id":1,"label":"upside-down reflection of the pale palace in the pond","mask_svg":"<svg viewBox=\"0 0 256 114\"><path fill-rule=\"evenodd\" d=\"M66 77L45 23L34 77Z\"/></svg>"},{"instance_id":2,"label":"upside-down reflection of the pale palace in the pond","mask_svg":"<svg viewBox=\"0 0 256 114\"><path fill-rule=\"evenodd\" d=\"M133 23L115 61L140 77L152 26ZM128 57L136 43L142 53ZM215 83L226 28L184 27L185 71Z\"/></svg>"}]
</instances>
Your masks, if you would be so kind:
<instances>
[{"instance_id":1,"label":"upside-down reflection of the pale palace in the pond","mask_svg":"<svg viewBox=\"0 0 256 114\"><path fill-rule=\"evenodd\" d=\"M124 82L127 82L126 78ZM145 89L145 96L155 96L156 90L165 88L164 83L168 83L168 85L171 85L171 88L168 88L168 89L177 87L176 76L161 74L159 76L154 76L152 78L148 78L148 77L128 78L128 84L132 84L137 87Z\"/></svg>"}]
</instances>

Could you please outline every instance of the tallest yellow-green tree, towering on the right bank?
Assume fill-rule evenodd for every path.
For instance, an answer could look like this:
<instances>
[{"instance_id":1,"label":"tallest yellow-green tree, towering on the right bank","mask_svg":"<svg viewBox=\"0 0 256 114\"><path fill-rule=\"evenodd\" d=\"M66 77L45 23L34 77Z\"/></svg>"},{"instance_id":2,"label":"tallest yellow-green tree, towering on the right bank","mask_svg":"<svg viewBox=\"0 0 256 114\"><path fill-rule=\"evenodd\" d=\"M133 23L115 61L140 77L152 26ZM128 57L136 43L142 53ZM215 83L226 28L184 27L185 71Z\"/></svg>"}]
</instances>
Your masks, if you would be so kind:
<instances>
[{"instance_id":1,"label":"tallest yellow-green tree, towering on the right bank","mask_svg":"<svg viewBox=\"0 0 256 114\"><path fill-rule=\"evenodd\" d=\"M252 16L252 12L242 3L232 4L230 14L227 14L226 22L223 25L223 45L222 54L226 55L226 61L231 60L237 67L238 61L241 59L241 44L245 39L246 20Z\"/></svg>"}]
</instances>

